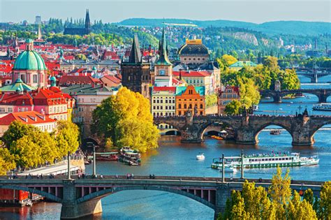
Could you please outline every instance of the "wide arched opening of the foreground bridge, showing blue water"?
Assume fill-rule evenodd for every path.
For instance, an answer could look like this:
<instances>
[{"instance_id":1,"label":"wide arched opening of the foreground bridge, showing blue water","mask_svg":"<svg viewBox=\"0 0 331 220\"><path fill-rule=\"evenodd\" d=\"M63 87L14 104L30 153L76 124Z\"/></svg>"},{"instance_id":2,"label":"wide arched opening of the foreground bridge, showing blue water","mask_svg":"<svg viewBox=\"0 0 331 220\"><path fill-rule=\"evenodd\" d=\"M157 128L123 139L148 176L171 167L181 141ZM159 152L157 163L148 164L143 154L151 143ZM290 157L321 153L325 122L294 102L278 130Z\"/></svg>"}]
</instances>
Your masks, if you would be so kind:
<instances>
[{"instance_id":1,"label":"wide arched opening of the foreground bridge, showing blue water","mask_svg":"<svg viewBox=\"0 0 331 220\"><path fill-rule=\"evenodd\" d=\"M163 187L143 189L143 186L131 186L131 189L128 190L105 193L101 203L103 204L103 217L107 216L110 219L112 217L114 219L117 219L116 217L125 217L125 219L126 217L128 219L133 217L140 219L141 217L144 219L146 216L154 216L156 219L177 219L178 216L200 217L199 219L209 216L212 218L215 198L211 195L210 200L212 201L208 202L208 198L205 196L207 196L206 193L203 195L204 198L201 198L202 196L199 197L198 194L194 195L194 192L180 189ZM142 208L139 212L128 212L141 205ZM171 210L171 214L169 210Z\"/></svg>"}]
</instances>

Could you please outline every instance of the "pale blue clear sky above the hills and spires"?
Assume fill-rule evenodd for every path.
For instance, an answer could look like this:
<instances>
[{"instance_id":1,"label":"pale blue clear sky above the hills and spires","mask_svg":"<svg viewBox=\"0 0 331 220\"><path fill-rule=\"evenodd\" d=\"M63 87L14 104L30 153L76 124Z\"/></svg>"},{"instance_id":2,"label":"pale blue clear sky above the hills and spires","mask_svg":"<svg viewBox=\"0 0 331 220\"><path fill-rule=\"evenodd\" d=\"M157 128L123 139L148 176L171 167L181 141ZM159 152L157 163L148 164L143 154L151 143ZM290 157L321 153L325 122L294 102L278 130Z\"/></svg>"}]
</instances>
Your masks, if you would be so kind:
<instances>
[{"instance_id":1,"label":"pale blue clear sky above the hills and spires","mask_svg":"<svg viewBox=\"0 0 331 220\"><path fill-rule=\"evenodd\" d=\"M131 17L236 20L263 23L277 20L331 22L329 0L0 0L0 22L34 22L50 17L120 22Z\"/></svg>"}]
</instances>

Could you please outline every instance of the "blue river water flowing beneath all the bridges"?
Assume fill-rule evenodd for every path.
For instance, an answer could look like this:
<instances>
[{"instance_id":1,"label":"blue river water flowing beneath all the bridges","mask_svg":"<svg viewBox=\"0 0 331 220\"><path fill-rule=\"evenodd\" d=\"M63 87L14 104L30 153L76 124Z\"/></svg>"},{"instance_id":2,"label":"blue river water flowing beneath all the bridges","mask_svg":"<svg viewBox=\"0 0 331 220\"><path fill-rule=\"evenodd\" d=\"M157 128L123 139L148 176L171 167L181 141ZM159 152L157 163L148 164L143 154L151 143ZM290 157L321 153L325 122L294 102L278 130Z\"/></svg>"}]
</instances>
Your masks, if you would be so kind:
<instances>
[{"instance_id":1,"label":"blue river water flowing beneath all the bridges","mask_svg":"<svg viewBox=\"0 0 331 220\"><path fill-rule=\"evenodd\" d=\"M324 82L331 81L323 78ZM322 82L323 82L322 81ZM302 88L331 88L330 84L306 84L309 80L302 78ZM283 103L270 103L262 100L257 114L288 115L307 108L309 114L331 115L331 112L312 111L312 105L318 99L306 94L304 98L284 99ZM307 98L308 97L308 98ZM328 98L331 102L331 97ZM329 125L331 127L331 125ZM183 144L179 137L163 136L159 140L159 148L142 154L142 166L131 167L115 161L98 161L96 172L103 175L177 175L221 177L219 170L210 168L212 159L221 154L238 155L241 149L246 154L274 152L300 152L302 156L318 155L318 166L290 168L293 179L327 181L331 179L331 131L323 127L314 136L314 147L298 147L290 145L292 139L287 131L281 135L270 135L262 131L257 146L236 145L234 142L205 138L201 144ZM199 152L205 154L205 161L197 161ZM87 166L91 173L91 166ZM245 177L271 178L274 168L245 170ZM240 173L226 173L227 177L240 177ZM85 219L213 219L214 211L195 200L184 196L162 191L122 191L102 199L103 213ZM61 205L57 203L38 203L33 207L0 208L2 219L59 219Z\"/></svg>"}]
</instances>

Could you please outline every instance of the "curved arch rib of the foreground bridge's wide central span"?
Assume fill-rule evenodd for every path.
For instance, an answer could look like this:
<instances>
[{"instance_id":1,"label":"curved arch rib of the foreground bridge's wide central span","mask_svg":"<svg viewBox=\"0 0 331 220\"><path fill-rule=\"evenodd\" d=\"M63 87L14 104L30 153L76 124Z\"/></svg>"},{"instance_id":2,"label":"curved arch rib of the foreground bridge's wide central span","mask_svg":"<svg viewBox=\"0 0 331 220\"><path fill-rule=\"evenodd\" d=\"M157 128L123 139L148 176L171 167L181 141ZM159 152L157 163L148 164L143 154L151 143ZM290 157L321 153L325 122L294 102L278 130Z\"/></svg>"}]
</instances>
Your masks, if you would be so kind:
<instances>
[{"instance_id":1,"label":"curved arch rib of the foreground bridge's wide central span","mask_svg":"<svg viewBox=\"0 0 331 220\"><path fill-rule=\"evenodd\" d=\"M88 200L92 200L94 198L103 198L105 196L109 196L110 194L117 193L119 191L127 191L127 190L151 190L151 191L165 191L168 193L175 193L178 195L186 196L188 198L191 198L193 200L198 201L199 203L202 203L203 205L206 205L207 207L215 209L215 205L208 200L205 200L201 196L196 196L193 193L189 193L187 191L183 191L181 189L175 189L172 187L164 187L164 186L116 186L108 189L103 189L101 191L96 191L94 193L90 193L87 196L83 196L82 198L78 198L76 200L77 203L84 203ZM216 189L215 189L216 192Z\"/></svg>"}]
</instances>

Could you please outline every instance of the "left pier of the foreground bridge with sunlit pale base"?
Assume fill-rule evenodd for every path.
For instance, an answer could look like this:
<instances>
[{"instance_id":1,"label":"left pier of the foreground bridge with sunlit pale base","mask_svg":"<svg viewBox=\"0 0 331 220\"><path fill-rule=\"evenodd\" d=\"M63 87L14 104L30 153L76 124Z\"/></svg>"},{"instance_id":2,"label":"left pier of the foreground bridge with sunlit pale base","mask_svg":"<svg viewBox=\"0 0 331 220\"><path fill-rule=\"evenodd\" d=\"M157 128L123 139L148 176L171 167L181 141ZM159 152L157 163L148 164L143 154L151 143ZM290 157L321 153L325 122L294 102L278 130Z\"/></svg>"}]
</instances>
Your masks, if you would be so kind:
<instances>
[{"instance_id":1,"label":"left pier of the foreground bridge with sunlit pale base","mask_svg":"<svg viewBox=\"0 0 331 220\"><path fill-rule=\"evenodd\" d=\"M102 212L101 199L95 198L83 203L76 202L75 180L64 180L64 198L61 207L61 219L78 219L90 214Z\"/></svg>"}]
</instances>

